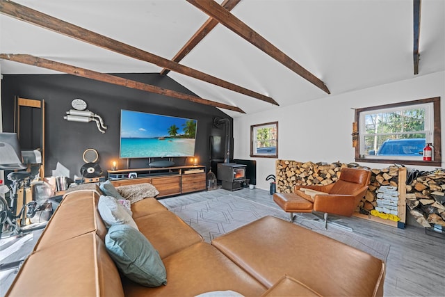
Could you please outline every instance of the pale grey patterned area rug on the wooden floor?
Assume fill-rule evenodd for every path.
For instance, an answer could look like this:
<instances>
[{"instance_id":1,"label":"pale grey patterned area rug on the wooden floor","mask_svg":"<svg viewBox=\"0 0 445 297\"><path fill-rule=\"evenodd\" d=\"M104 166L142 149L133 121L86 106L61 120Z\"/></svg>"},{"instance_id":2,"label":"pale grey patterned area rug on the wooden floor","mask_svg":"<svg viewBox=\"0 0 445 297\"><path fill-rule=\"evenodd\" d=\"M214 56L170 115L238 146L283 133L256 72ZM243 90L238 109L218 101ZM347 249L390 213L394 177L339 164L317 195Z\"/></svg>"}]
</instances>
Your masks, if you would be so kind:
<instances>
[{"instance_id":1,"label":"pale grey patterned area rug on the wooden floor","mask_svg":"<svg viewBox=\"0 0 445 297\"><path fill-rule=\"evenodd\" d=\"M193 227L206 242L211 242L212 239L218 236L264 216L275 216L288 220L288 214L284 213L284 211L232 194L175 207L170 209L170 211ZM354 232L343 231L337 227L328 227L325 230L323 223L311 220L311 214L309 216L296 216L294 223L346 243L348 246L368 252L383 261L387 259L389 253L389 244L387 243L382 243L375 239L367 239L364 236Z\"/></svg>"}]
</instances>

